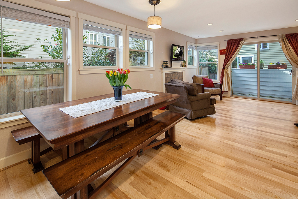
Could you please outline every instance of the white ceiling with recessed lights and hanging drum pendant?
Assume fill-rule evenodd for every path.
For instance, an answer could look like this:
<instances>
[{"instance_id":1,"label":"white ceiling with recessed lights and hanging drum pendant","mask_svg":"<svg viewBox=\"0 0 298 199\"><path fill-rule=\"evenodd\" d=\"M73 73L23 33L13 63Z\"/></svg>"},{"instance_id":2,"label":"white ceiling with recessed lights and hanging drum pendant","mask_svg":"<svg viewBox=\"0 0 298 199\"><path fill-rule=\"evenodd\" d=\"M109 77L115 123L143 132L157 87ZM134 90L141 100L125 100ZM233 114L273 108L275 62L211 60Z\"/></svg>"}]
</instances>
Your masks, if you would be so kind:
<instances>
[{"instance_id":1,"label":"white ceiling with recessed lights and hanging drum pendant","mask_svg":"<svg viewBox=\"0 0 298 199\"><path fill-rule=\"evenodd\" d=\"M143 21L154 15L154 6L148 0L85 1ZM206 38L298 27L297 8L298 0L161 0L155 13L162 17L164 28Z\"/></svg>"}]
</instances>

